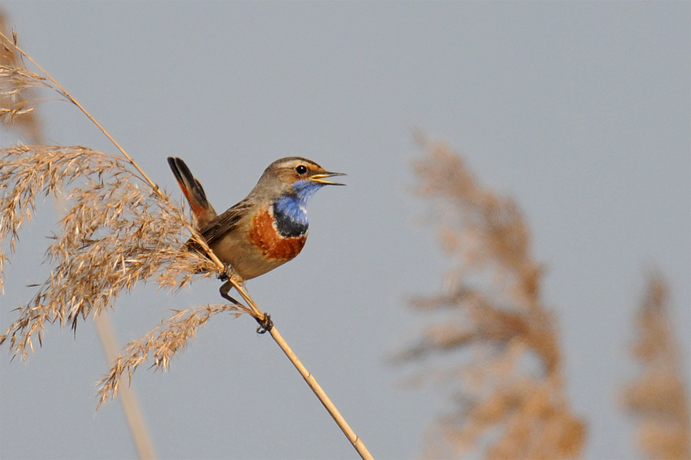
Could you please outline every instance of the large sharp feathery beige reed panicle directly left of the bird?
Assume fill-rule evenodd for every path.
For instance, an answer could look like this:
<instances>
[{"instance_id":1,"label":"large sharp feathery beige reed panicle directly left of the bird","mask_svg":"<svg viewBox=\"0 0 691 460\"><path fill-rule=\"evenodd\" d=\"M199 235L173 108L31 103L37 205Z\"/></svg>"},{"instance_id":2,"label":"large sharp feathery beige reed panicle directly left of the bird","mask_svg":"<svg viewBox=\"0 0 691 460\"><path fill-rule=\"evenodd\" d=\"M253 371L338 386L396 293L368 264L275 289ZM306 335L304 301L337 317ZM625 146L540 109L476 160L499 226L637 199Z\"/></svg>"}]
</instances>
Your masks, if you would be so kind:
<instances>
[{"instance_id":1,"label":"large sharp feathery beige reed panicle directly left of the bird","mask_svg":"<svg viewBox=\"0 0 691 460\"><path fill-rule=\"evenodd\" d=\"M49 194L66 201L46 252L53 269L0 336L0 345L10 339L23 359L45 323L76 328L79 317L113 307L117 294L138 281L177 288L194 272L215 268L196 252L180 251L194 232L166 194L151 190L124 159L79 146L0 150L0 241L9 236L10 250L37 197Z\"/></svg>"}]
</instances>

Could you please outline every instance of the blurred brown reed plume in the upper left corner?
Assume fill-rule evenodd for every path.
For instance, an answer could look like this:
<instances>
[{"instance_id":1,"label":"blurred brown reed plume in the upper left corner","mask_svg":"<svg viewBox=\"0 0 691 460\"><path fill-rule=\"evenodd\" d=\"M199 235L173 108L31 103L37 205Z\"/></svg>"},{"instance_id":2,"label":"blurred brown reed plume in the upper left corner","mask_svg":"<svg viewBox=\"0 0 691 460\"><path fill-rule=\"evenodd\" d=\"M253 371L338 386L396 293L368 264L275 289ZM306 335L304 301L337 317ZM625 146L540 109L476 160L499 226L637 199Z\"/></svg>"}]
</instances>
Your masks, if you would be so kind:
<instances>
[{"instance_id":1,"label":"blurred brown reed plume in the upper left corner","mask_svg":"<svg viewBox=\"0 0 691 460\"><path fill-rule=\"evenodd\" d=\"M0 10L0 32L12 37L17 34L7 26L6 15ZM14 46L0 41L0 123L14 128L31 143L41 141L41 123L36 115L36 87L46 87L46 79L21 66Z\"/></svg>"}]
</instances>

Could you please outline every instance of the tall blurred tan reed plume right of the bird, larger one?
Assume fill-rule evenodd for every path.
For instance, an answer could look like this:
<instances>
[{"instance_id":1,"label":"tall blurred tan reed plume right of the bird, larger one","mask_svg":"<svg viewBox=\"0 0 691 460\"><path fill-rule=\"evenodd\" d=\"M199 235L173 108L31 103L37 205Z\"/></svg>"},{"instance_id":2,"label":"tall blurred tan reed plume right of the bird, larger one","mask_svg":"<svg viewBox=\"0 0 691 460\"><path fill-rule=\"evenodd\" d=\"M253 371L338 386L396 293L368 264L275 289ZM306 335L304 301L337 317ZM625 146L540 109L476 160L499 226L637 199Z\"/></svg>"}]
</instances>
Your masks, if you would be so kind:
<instances>
[{"instance_id":1,"label":"tall blurred tan reed plume right of the bird, larger one","mask_svg":"<svg viewBox=\"0 0 691 460\"><path fill-rule=\"evenodd\" d=\"M435 375L456 401L428 429L424 457L482 448L489 459L578 457L586 425L567 401L556 323L540 298L542 266L531 257L518 206L482 188L444 144L419 142L427 156L415 163L417 194L436 206L439 240L456 263L443 294L413 301L420 312L446 319L396 357L447 362L411 379ZM473 359L451 354L464 347Z\"/></svg>"}]
</instances>

